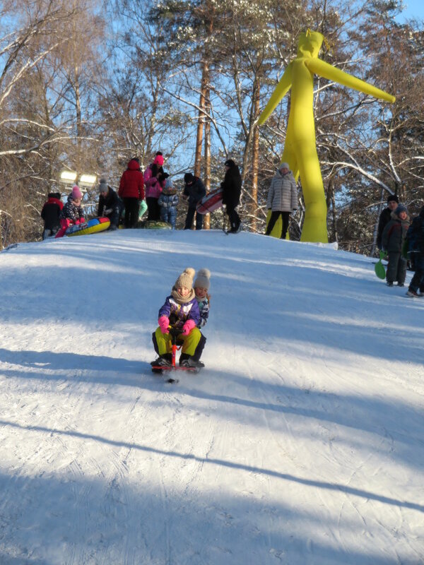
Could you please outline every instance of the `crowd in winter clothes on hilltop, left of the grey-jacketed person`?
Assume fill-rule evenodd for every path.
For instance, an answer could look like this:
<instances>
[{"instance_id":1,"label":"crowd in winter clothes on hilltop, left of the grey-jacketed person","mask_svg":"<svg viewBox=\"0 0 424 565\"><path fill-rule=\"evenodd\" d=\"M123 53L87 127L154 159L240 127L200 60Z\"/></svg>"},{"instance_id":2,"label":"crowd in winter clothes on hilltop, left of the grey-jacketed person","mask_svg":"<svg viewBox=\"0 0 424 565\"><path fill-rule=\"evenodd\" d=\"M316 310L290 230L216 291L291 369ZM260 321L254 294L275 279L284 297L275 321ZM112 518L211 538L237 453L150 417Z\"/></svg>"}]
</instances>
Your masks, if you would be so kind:
<instances>
[{"instance_id":1,"label":"crowd in winter clothes on hilltop, left of the grey-jacketed person","mask_svg":"<svg viewBox=\"0 0 424 565\"><path fill-rule=\"evenodd\" d=\"M158 151L144 172L141 171L137 157L129 160L122 173L118 191L114 191L107 179L99 182L98 216L110 220L109 230L122 227L134 228L147 210L148 222L167 222L175 230L179 196L170 174L163 169L164 157ZM230 221L230 232L240 230L240 217L235 208L240 203L242 178L239 167L231 159L225 161L225 176L220 185L223 205ZM187 201L187 215L184 230L196 230L203 227L203 215L196 211L196 206L206 196L206 188L199 177L192 172L184 174L182 199ZM67 196L66 204L61 202L59 192L49 193L47 202L42 208L41 217L45 222L43 239L62 237L69 226L85 222L81 201L81 189L74 185Z\"/></svg>"}]
</instances>

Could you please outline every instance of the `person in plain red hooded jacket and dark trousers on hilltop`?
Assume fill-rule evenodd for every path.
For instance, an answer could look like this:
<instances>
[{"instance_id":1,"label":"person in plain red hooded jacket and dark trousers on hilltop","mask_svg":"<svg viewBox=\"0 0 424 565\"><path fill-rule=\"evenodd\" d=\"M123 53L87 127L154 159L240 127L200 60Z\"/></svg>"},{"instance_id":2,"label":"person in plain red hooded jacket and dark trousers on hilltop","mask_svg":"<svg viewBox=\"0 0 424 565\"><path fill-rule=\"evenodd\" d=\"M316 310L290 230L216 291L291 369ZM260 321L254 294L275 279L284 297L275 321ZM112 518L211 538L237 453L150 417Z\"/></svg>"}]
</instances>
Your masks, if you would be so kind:
<instances>
[{"instance_id":1,"label":"person in plain red hooded jacket and dark trousers on hilltop","mask_svg":"<svg viewBox=\"0 0 424 565\"><path fill-rule=\"evenodd\" d=\"M124 201L125 227L137 227L139 221L139 201L144 200L144 180L137 158L131 159L119 183L119 196Z\"/></svg>"}]
</instances>

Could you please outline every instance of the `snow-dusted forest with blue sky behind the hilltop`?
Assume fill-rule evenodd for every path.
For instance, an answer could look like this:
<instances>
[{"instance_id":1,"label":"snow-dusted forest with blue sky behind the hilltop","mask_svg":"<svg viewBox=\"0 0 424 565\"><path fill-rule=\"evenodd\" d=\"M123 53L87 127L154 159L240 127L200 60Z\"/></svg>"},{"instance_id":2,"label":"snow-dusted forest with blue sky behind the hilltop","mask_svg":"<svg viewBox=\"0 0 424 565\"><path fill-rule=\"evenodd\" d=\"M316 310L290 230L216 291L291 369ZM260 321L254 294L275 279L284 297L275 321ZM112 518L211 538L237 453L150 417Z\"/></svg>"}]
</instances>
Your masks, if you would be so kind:
<instances>
[{"instance_id":1,"label":"snow-dusted forest with blue sky behind the hilltop","mask_svg":"<svg viewBox=\"0 0 424 565\"><path fill-rule=\"evenodd\" d=\"M47 194L66 194L62 170L117 188L131 157L144 169L157 150L179 188L192 171L214 189L235 160L245 229L264 232L290 94L257 120L310 28L326 38L322 59L396 96L389 105L314 83L329 241L373 254L387 196L410 215L424 203L424 24L404 10L396 0L1 1L0 249L41 238ZM88 211L97 201L93 186ZM290 238L303 218L300 191ZM222 222L221 210L206 227Z\"/></svg>"}]
</instances>

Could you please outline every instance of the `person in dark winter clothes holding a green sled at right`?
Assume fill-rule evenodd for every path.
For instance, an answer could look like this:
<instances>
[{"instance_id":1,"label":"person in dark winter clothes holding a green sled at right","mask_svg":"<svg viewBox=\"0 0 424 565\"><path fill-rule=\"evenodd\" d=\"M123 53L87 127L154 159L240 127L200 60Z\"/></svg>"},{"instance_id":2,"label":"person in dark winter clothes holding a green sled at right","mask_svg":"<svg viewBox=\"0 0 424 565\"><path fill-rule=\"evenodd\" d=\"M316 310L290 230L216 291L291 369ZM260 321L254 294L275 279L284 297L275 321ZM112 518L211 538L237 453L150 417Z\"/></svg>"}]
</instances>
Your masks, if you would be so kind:
<instances>
[{"instance_id":1,"label":"person in dark winter clothes holding a green sled at right","mask_svg":"<svg viewBox=\"0 0 424 565\"><path fill-rule=\"evenodd\" d=\"M392 287L394 280L397 280L398 286L403 287L406 278L406 258L402 256L402 249L409 227L408 210L406 206L399 204L390 215L391 220L382 233L382 251L387 251L389 258L386 284Z\"/></svg>"}]
</instances>

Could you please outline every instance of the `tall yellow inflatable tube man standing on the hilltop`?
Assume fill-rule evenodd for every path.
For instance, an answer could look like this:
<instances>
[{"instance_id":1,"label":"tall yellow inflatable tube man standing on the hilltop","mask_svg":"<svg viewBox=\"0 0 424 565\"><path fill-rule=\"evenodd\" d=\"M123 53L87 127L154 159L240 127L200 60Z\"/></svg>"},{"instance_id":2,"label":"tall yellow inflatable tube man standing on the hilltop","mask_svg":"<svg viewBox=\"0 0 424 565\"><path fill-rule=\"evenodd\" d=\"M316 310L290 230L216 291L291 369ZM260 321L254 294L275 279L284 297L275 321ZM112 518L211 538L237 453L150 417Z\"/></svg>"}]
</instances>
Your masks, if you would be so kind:
<instances>
[{"instance_id":1,"label":"tall yellow inflatable tube man standing on the hilltop","mask_svg":"<svg viewBox=\"0 0 424 565\"><path fill-rule=\"evenodd\" d=\"M326 201L315 141L313 112L314 73L329 81L359 90L364 94L394 102L395 97L379 90L360 78L336 69L318 59L324 36L307 30L299 38L298 56L291 61L276 86L268 104L259 117L259 125L269 118L278 102L291 88L290 114L281 162L288 162L297 180L300 175L305 199L305 222L302 242L328 242L326 230ZM269 218L267 218L269 220ZM281 219L271 235L281 234Z\"/></svg>"}]
</instances>

